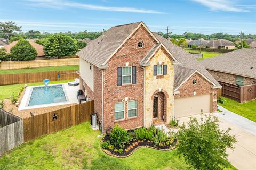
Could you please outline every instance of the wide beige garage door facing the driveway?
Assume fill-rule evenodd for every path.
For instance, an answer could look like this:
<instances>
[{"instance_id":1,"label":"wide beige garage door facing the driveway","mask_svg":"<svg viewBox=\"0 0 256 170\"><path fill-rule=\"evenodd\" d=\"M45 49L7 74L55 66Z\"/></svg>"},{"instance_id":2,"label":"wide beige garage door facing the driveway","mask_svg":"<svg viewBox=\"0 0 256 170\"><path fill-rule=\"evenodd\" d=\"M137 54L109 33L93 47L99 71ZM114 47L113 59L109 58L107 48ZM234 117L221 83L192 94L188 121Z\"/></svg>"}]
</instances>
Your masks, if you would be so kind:
<instances>
[{"instance_id":1,"label":"wide beige garage door facing the driveway","mask_svg":"<svg viewBox=\"0 0 256 170\"><path fill-rule=\"evenodd\" d=\"M191 116L201 113L211 112L211 94L193 97L183 97L174 99L174 115L177 117Z\"/></svg>"}]
</instances>

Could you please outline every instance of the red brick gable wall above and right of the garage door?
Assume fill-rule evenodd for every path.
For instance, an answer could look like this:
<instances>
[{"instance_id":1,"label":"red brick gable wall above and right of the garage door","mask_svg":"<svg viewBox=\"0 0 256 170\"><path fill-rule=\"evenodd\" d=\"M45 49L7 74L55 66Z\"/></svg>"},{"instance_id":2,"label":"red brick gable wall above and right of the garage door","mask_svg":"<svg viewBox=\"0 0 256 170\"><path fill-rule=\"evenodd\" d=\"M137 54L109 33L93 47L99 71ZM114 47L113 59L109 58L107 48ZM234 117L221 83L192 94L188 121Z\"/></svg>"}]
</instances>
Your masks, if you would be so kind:
<instances>
[{"instance_id":1,"label":"red brick gable wall above and right of the garage door","mask_svg":"<svg viewBox=\"0 0 256 170\"><path fill-rule=\"evenodd\" d=\"M197 83L194 85L192 81L196 79ZM196 91L196 95L212 94L213 106L212 112L217 111L217 89L211 88L211 83L204 79L200 74L195 73L192 75L179 89L179 95L175 95L174 98L191 97L194 96L193 92Z\"/></svg>"}]
</instances>

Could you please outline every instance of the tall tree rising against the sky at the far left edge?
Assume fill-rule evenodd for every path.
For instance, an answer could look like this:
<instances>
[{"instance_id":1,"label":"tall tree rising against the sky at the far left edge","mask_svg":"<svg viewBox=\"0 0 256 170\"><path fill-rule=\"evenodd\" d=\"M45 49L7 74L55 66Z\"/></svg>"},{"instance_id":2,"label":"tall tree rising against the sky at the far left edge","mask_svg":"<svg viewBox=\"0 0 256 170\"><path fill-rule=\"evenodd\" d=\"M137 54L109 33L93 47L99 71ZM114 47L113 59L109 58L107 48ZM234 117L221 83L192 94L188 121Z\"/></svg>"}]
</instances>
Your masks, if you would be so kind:
<instances>
[{"instance_id":1,"label":"tall tree rising against the sky at the far left edge","mask_svg":"<svg viewBox=\"0 0 256 170\"><path fill-rule=\"evenodd\" d=\"M14 32L20 32L20 29L21 27L15 22L0 22L0 33L7 41L9 41Z\"/></svg>"}]
</instances>

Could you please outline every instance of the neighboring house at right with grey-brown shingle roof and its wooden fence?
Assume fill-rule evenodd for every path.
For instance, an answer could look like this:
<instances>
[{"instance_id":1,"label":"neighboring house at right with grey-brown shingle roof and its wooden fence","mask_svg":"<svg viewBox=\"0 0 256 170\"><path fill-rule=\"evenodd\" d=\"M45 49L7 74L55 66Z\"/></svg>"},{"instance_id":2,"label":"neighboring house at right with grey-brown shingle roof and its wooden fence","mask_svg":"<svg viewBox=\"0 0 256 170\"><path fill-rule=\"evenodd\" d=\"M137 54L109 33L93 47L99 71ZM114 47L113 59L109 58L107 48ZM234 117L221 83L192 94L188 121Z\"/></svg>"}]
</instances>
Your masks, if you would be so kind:
<instances>
[{"instance_id":1,"label":"neighboring house at right with grey-brown shingle roof and its wooden fence","mask_svg":"<svg viewBox=\"0 0 256 170\"><path fill-rule=\"evenodd\" d=\"M207 58L202 63L220 84L224 84L223 96L240 102L256 98L255 49L235 50Z\"/></svg>"}]
</instances>

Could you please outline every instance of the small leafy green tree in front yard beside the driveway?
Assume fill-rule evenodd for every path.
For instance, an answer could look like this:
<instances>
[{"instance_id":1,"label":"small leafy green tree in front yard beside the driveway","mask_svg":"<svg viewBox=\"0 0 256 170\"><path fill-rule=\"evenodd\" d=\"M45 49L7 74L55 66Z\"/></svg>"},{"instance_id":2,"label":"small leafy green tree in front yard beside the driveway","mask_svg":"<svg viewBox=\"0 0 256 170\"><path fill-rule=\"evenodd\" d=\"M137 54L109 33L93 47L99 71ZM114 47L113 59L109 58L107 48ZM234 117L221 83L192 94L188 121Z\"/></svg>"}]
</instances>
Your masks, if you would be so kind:
<instances>
[{"instance_id":1,"label":"small leafy green tree in front yard beside the driveway","mask_svg":"<svg viewBox=\"0 0 256 170\"><path fill-rule=\"evenodd\" d=\"M229 167L226 149L234 149L234 136L228 134L231 130L220 130L219 120L213 115L201 117L201 121L190 118L177 132L179 140L177 152L188 165L195 169L223 169Z\"/></svg>"}]
</instances>

